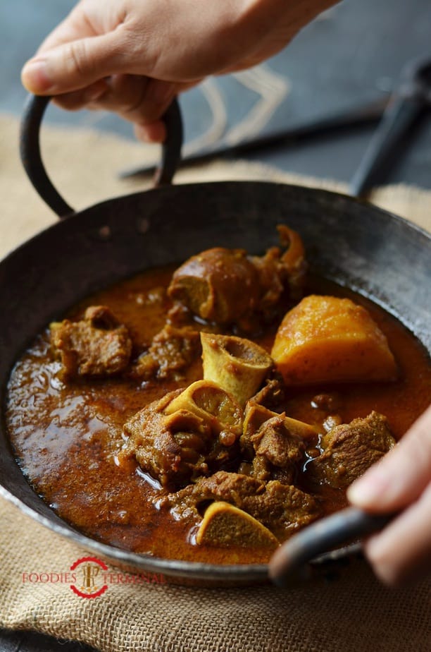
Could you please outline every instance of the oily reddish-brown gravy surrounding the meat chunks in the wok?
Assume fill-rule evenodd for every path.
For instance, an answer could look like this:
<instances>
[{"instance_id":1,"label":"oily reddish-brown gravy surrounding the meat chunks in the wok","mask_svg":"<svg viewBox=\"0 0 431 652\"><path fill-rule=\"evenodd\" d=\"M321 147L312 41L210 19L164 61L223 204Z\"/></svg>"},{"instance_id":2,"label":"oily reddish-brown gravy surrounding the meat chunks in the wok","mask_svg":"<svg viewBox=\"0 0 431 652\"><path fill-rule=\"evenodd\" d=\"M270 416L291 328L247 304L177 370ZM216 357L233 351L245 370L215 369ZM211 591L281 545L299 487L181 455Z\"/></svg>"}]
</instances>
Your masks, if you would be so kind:
<instances>
[{"instance_id":1,"label":"oily reddish-brown gravy surrounding the meat chunks in the wok","mask_svg":"<svg viewBox=\"0 0 431 652\"><path fill-rule=\"evenodd\" d=\"M165 323L170 303L160 289L168 286L173 269L149 270L115 284L75 306L68 317L80 318L89 305L109 306L130 330L137 354ZM337 412L344 423L375 410L387 416L392 433L399 439L429 403L431 365L427 352L396 319L362 296L323 279L311 279L308 292L348 296L366 306L387 337L399 365L399 379L295 388L289 390L287 415L321 424L326 413L313 398L335 392ZM274 325L256 342L270 351L276 329ZM13 368L6 419L23 473L65 521L92 538L137 553L216 564L268 560L270 553L265 550L196 545L187 522L175 521L154 506L152 500L163 490L139 469L127 473L115 464L124 442L125 421L166 392L201 378L199 358L179 382L111 378L65 385L58 378L59 368L47 329ZM299 485L310 489L306 473ZM345 505L340 490L322 486L318 497L327 513Z\"/></svg>"}]
</instances>

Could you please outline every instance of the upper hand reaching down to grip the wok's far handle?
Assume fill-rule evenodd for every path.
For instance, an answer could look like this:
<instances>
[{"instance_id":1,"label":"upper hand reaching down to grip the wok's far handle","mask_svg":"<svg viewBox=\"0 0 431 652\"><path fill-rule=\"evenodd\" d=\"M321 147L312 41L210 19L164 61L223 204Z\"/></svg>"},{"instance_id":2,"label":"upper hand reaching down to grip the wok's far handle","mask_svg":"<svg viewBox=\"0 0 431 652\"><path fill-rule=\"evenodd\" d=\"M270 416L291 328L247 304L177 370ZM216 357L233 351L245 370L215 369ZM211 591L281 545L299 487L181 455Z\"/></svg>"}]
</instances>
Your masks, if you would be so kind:
<instances>
[{"instance_id":1,"label":"upper hand reaching down to grip the wok's far handle","mask_svg":"<svg viewBox=\"0 0 431 652\"><path fill-rule=\"evenodd\" d=\"M107 109L161 142L175 95L254 66L338 0L81 0L25 64L23 85L64 109Z\"/></svg>"}]
</instances>

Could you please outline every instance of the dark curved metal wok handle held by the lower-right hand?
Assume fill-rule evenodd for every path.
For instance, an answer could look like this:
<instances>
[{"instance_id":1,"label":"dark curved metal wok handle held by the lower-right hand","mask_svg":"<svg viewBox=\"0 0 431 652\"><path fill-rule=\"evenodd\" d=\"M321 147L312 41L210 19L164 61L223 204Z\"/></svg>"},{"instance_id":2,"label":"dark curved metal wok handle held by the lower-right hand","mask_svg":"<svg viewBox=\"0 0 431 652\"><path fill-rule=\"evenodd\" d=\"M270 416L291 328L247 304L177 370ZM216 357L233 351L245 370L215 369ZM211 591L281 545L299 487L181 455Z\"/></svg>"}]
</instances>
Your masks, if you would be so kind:
<instances>
[{"instance_id":1,"label":"dark curved metal wok handle held by the lower-right hand","mask_svg":"<svg viewBox=\"0 0 431 652\"><path fill-rule=\"evenodd\" d=\"M395 516L346 507L308 525L275 550L268 567L270 579L277 586L288 586L296 576L306 577L304 567L318 555L383 529Z\"/></svg>"}]
</instances>

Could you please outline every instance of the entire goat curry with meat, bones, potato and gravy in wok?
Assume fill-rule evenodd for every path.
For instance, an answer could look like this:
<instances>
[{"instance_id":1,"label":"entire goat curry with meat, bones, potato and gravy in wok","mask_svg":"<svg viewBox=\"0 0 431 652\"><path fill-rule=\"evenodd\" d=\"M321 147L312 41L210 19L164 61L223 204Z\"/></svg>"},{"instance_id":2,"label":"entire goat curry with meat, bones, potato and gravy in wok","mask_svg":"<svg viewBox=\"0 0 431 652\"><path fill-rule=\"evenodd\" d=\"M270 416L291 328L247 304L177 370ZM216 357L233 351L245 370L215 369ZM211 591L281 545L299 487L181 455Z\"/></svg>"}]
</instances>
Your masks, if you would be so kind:
<instances>
[{"instance_id":1,"label":"entire goat curry with meat, bones, potato and gravy in wok","mask_svg":"<svg viewBox=\"0 0 431 652\"><path fill-rule=\"evenodd\" d=\"M265 562L425 409L423 346L279 231L262 256L215 247L85 299L16 363L11 442L65 521L137 553Z\"/></svg>"}]
</instances>

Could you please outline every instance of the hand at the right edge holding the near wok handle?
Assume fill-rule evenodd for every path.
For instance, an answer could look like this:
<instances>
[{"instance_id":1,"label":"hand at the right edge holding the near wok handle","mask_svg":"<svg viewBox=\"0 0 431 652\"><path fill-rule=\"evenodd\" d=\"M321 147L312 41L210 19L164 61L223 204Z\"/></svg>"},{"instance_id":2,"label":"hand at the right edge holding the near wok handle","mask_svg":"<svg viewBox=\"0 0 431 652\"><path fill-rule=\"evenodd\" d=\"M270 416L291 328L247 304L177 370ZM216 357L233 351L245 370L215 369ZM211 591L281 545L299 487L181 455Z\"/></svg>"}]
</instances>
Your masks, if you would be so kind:
<instances>
[{"instance_id":1,"label":"hand at the right edge holding the near wok handle","mask_svg":"<svg viewBox=\"0 0 431 652\"><path fill-rule=\"evenodd\" d=\"M399 444L349 487L347 497L368 512L404 510L364 545L385 584L431 571L431 406Z\"/></svg>"}]
</instances>

